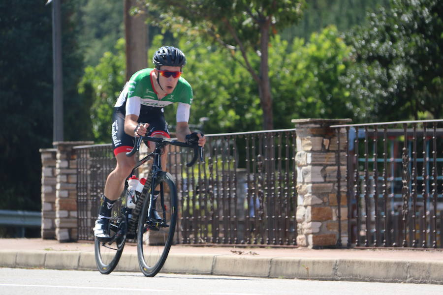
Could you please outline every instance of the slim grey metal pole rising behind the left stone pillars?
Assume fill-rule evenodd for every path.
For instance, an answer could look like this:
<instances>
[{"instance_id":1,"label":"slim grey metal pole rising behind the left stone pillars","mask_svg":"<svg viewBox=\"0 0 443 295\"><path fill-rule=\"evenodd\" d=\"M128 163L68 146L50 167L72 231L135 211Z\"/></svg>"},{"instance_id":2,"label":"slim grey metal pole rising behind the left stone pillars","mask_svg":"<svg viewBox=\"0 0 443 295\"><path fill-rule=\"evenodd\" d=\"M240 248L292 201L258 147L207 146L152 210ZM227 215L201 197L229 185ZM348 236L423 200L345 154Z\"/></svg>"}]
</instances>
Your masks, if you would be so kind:
<instances>
[{"instance_id":1,"label":"slim grey metal pole rising behind the left stone pillars","mask_svg":"<svg viewBox=\"0 0 443 295\"><path fill-rule=\"evenodd\" d=\"M52 3L53 141L63 141L63 72L61 0Z\"/></svg>"}]
</instances>

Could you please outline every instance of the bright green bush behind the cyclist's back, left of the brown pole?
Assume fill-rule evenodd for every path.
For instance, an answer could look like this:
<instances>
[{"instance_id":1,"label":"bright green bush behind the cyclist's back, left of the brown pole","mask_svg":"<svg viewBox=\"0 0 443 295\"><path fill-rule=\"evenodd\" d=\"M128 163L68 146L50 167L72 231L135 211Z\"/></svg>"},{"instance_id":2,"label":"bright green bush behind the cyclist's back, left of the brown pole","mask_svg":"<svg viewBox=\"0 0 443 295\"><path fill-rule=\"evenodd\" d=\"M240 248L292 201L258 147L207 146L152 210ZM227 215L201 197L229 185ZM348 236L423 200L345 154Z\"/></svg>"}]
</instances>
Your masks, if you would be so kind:
<instances>
[{"instance_id":1,"label":"bright green bush behind the cyclist's back, left of the brown pole","mask_svg":"<svg viewBox=\"0 0 443 295\"><path fill-rule=\"evenodd\" d=\"M120 91L125 85L125 40L115 46L117 54L105 52L95 67L88 66L79 84L79 92L91 97L90 109L94 138L97 143L108 143L112 112Z\"/></svg>"}]
</instances>

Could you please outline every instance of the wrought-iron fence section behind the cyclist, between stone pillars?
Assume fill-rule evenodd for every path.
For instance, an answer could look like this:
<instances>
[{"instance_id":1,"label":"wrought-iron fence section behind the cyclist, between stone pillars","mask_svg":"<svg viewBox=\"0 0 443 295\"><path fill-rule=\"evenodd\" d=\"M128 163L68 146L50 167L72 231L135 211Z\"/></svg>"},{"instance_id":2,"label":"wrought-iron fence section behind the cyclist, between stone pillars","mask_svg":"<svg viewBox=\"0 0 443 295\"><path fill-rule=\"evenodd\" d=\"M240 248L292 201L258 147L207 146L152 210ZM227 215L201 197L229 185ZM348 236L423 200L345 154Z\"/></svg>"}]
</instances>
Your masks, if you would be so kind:
<instances>
[{"instance_id":1,"label":"wrought-iron fence section behind the cyclist, between stone pillars","mask_svg":"<svg viewBox=\"0 0 443 295\"><path fill-rule=\"evenodd\" d=\"M296 246L295 129L206 136L205 163L186 167L186 150L171 148L168 155L179 191L176 242ZM78 236L91 240L115 159L110 145L76 152Z\"/></svg>"}]
</instances>

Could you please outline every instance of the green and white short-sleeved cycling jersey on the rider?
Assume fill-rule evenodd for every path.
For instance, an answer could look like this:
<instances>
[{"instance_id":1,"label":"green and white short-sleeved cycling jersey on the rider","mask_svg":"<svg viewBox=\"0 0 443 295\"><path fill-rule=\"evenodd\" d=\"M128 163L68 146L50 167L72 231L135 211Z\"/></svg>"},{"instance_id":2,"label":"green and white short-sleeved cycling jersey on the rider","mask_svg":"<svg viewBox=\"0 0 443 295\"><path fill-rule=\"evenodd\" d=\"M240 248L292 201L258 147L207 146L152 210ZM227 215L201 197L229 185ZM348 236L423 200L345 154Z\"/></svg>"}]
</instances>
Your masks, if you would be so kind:
<instances>
[{"instance_id":1,"label":"green and white short-sleeved cycling jersey on the rider","mask_svg":"<svg viewBox=\"0 0 443 295\"><path fill-rule=\"evenodd\" d=\"M188 122L192 104L192 88L188 81L180 77L172 93L158 99L151 77L152 68L142 69L132 75L115 104L123 115L148 115L150 112L163 112L163 107L178 103L177 122Z\"/></svg>"}]
</instances>

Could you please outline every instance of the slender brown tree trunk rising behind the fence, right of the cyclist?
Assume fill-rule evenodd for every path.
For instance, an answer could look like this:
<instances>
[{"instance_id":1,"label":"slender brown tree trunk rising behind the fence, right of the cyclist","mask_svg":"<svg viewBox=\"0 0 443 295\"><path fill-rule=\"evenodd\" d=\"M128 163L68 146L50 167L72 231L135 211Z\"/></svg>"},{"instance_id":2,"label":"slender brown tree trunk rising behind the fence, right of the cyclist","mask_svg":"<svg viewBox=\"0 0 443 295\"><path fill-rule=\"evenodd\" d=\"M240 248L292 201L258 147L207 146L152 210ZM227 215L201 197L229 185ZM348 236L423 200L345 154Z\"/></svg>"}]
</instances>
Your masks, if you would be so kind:
<instances>
[{"instance_id":1,"label":"slender brown tree trunk rising behind the fence, right of the cyclist","mask_svg":"<svg viewBox=\"0 0 443 295\"><path fill-rule=\"evenodd\" d=\"M260 73L258 83L258 94L260 96L260 105L263 110L263 129L274 129L274 118L272 110L271 84L269 81L269 64L268 64L268 45L269 45L269 29L270 21L262 24L260 39Z\"/></svg>"}]
</instances>

